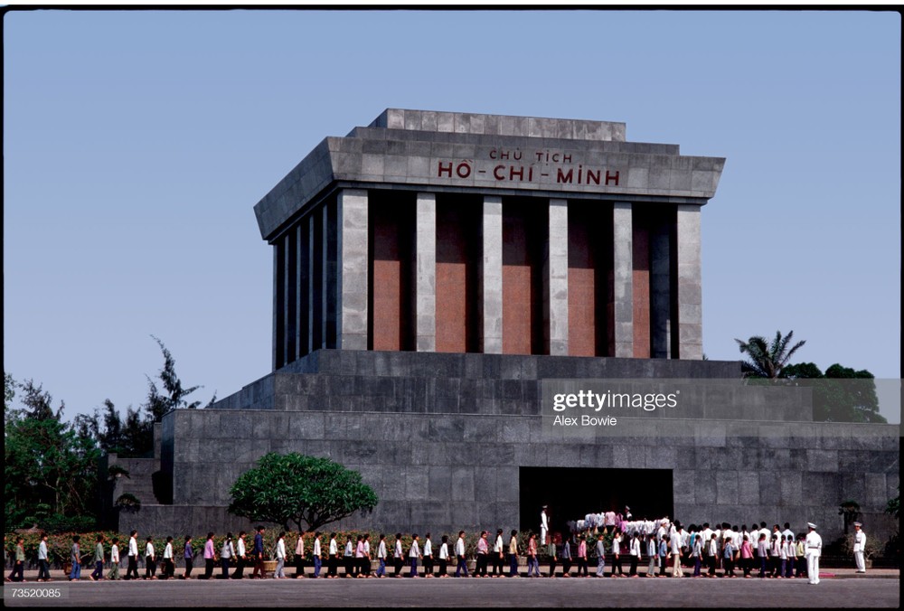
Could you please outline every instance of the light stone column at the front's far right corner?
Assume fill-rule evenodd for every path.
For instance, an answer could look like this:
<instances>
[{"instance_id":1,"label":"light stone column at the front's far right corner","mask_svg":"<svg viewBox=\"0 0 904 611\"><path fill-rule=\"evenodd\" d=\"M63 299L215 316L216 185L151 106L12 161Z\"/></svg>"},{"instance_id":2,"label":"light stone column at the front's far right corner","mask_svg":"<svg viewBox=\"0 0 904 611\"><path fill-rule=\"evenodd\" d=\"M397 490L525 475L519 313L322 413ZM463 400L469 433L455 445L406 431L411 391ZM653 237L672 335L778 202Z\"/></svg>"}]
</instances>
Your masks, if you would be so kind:
<instances>
[{"instance_id":1,"label":"light stone column at the front's far right corner","mask_svg":"<svg viewBox=\"0 0 904 611\"><path fill-rule=\"evenodd\" d=\"M703 358L703 311L700 259L700 206L679 204L678 358Z\"/></svg>"}]
</instances>

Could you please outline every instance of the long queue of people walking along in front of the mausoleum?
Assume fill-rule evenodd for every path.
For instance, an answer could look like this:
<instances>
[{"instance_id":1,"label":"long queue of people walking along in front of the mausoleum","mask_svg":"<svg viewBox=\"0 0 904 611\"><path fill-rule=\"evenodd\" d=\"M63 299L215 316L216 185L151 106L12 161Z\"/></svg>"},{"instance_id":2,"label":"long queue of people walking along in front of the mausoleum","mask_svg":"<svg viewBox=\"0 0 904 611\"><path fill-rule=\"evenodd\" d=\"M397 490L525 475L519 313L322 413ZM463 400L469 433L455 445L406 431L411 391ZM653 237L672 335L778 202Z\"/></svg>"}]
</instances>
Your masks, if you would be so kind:
<instances>
[{"instance_id":1,"label":"long queue of people walking along in front of the mausoleum","mask_svg":"<svg viewBox=\"0 0 904 611\"><path fill-rule=\"evenodd\" d=\"M527 560L527 576L529 578L542 577L540 571L541 555L549 563L546 577L556 577L559 568L561 576L571 577L571 569L576 568L575 577L589 577L590 553L595 552L597 560L596 577L606 576L607 557L612 561L609 572L611 577L641 577L638 565L646 556L648 566L644 577L666 577L666 571L671 564L671 576L683 577L683 564L692 566L693 572L689 577L718 577L717 564L723 569L720 577L733 578L736 575L736 566L743 573L743 577L752 578L752 573L758 568L759 578L801 578L808 576L811 583L818 583L818 559L822 548L822 540L816 533L815 524L808 523L809 533L795 537L790 531L789 524L785 524L785 531L780 531L778 525L774 525L772 531L767 529L766 523L761 522L760 528L756 525L748 530L747 526L740 529L732 529L729 524L722 524L716 530L710 528L708 523L702 527L691 525L687 530L680 522L661 522L657 531L643 535L637 531L628 535L618 529L612 532L609 540L610 548L607 549L607 538L603 535L597 537L593 550L589 549L589 532L572 533L563 540L560 533L553 533L546 545L537 540L537 535L530 533L522 550L518 539L518 531L510 533L507 543L504 541L503 530L495 533L492 544L489 540L489 532L481 531L476 543L474 556L476 569L473 574L468 571L468 546L465 540L465 531L459 531L458 537L451 550L449 537L443 535L439 545L434 549L434 542L430 533L427 533L421 543L419 535L414 534L408 550L404 549L402 534L396 533L391 545L386 536L381 534L379 540L372 546L370 534L357 535L357 540L348 536L344 546L338 540L337 534L331 532L326 542L321 532L314 533L313 549L313 573L310 578L339 578L339 567L344 567L344 578L388 578L387 569L391 567L393 578L402 577L402 569L405 565L410 567L409 576L412 578L448 578L448 569L451 562L456 563L454 577L473 578L519 578L519 559L522 555ZM858 524L859 527L859 524ZM273 558L276 560L276 568L273 570L273 578L287 578L286 568L288 564L288 548L285 540L286 533L280 532L275 545L269 552L264 548L264 527L258 527L252 544L246 542L247 533L240 531L238 537L227 534L220 550L214 548L214 533L209 532L202 547L202 559L204 570L202 575L196 578L214 578L214 569L219 562L221 573L217 578L245 578L245 570L252 567L249 578L266 578L267 570L264 561ZM608 534L608 533L607 533ZM113 538L109 549L108 559L111 564L106 577L104 576L105 564L105 540L102 534L97 536L92 556L93 572L89 579L118 579L119 576L119 540ZM542 547L541 547L542 546ZM138 533L132 531L127 542L127 571L124 579L167 579L176 578L175 561L177 550L174 538L167 537L162 555L158 557L154 541L147 537L144 544L145 574L138 573L139 544ZM20 558L21 557L21 558ZM184 562L184 572L179 578L193 578L195 552L191 536L184 538L184 547L181 558ZM7 580L23 581L22 567L24 565L24 550L22 539L16 541L16 562L14 572ZM372 560L377 560L377 570L372 574ZM629 568L624 569L624 560L629 562ZM507 560L507 574L505 564ZM159 576L157 574L159 563ZM71 546L71 572L70 580L78 580L81 577L82 554L80 550L80 536L72 537ZM296 572L294 578L306 578L306 540L305 533L300 532L295 542L293 564ZM38 549L38 581L51 581L49 570L49 557L47 550L47 536L42 536ZM323 570L325 567L325 570ZM492 567L492 570L491 570ZM705 572L704 572L705 568ZM658 570L658 575L657 575ZM323 573L323 574L321 574Z\"/></svg>"}]
</instances>

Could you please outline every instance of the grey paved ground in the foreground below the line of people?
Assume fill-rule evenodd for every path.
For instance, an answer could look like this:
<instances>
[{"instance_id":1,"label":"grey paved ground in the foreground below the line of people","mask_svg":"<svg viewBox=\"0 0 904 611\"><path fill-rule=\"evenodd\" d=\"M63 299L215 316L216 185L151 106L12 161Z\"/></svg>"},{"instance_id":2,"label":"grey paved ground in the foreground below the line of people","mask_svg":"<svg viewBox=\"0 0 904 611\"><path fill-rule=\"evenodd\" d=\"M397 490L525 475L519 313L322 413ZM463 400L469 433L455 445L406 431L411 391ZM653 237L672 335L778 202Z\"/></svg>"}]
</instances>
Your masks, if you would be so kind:
<instances>
[{"instance_id":1,"label":"grey paved ground in the foreground below the line of people","mask_svg":"<svg viewBox=\"0 0 904 611\"><path fill-rule=\"evenodd\" d=\"M58 571L56 571L58 572ZM830 576L831 575L831 576ZM27 578L27 574L26 574ZM898 607L897 569L805 579L244 579L6 583L5 606ZM19 589L44 597L23 597ZM50 595L59 588L58 597ZM43 590L43 591L42 591Z\"/></svg>"}]
</instances>

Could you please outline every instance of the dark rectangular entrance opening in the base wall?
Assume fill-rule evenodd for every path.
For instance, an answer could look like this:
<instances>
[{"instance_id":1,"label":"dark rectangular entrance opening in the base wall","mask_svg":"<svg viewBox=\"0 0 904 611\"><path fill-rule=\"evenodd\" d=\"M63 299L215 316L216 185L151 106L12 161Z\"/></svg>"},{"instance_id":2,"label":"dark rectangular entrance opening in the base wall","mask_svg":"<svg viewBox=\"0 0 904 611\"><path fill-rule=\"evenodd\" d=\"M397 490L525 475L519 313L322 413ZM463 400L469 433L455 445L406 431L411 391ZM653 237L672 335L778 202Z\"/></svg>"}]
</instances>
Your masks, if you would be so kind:
<instances>
[{"instance_id":1,"label":"dark rectangular entrance opening in the base wall","mask_svg":"<svg viewBox=\"0 0 904 611\"><path fill-rule=\"evenodd\" d=\"M588 513L623 512L635 520L673 517L672 469L598 469L590 467L520 468L522 531L540 532L540 510L548 505L550 531L568 531L570 520Z\"/></svg>"}]
</instances>

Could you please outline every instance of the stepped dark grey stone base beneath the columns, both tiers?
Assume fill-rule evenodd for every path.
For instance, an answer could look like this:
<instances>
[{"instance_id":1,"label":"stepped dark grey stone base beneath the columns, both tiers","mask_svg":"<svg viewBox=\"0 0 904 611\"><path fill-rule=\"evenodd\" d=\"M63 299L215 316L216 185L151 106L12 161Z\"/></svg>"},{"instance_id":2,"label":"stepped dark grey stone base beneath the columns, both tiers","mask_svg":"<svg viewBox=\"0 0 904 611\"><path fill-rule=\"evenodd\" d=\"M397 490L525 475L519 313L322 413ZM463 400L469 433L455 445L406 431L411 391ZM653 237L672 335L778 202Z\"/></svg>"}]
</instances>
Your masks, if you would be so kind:
<instances>
[{"instance_id":1,"label":"stepped dark grey stone base beneath the columns, both tiers","mask_svg":"<svg viewBox=\"0 0 904 611\"><path fill-rule=\"evenodd\" d=\"M224 511L228 490L271 451L359 471L381 502L341 526L391 531L520 528L522 467L630 468L640 481L668 469L685 522L814 521L829 537L842 528L839 503L856 499L878 520L899 485L898 427L809 421L803 391L710 391L682 418L625 419L617 437L541 427L544 378L728 379L737 362L318 351L293 365L214 409L167 414L173 504L148 504L120 527L247 530Z\"/></svg>"}]
</instances>

